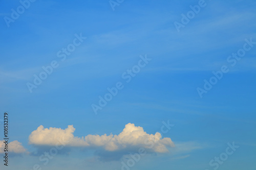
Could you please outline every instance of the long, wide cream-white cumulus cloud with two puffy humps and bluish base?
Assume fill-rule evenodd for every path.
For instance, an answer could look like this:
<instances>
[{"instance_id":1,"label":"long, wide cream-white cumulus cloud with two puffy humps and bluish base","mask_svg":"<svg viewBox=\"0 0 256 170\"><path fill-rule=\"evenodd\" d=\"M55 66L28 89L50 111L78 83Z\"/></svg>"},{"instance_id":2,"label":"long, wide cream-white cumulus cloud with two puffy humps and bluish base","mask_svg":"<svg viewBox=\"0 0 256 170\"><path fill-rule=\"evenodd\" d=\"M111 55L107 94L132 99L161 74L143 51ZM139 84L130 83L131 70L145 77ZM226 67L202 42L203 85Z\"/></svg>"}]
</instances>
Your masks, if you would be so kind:
<instances>
[{"instance_id":1,"label":"long, wide cream-white cumulus cloud with two puffy humps and bluish base","mask_svg":"<svg viewBox=\"0 0 256 170\"><path fill-rule=\"evenodd\" d=\"M87 135L75 137L75 128L69 125L67 129L44 128L39 126L29 136L29 143L34 145L65 145L67 147L100 148L108 152L129 151L144 148L150 152L168 152L168 147L174 143L170 138L162 138L160 133L147 134L142 127L127 124L118 135Z\"/></svg>"}]
</instances>

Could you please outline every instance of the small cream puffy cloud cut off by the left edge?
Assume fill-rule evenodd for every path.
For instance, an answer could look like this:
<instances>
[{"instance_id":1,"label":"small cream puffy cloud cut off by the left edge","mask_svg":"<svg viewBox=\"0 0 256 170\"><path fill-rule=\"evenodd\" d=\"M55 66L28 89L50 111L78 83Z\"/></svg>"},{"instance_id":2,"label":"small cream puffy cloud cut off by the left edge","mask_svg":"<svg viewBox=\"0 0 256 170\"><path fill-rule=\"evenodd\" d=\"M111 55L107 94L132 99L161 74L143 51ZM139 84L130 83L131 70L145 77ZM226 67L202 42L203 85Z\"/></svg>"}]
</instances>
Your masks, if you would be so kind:
<instances>
[{"instance_id":1,"label":"small cream puffy cloud cut off by the left edge","mask_svg":"<svg viewBox=\"0 0 256 170\"><path fill-rule=\"evenodd\" d=\"M5 140L0 140L0 154L4 153L5 145ZM26 149L23 147L22 143L14 140L8 143L8 152L22 154L26 152Z\"/></svg>"}]
</instances>

